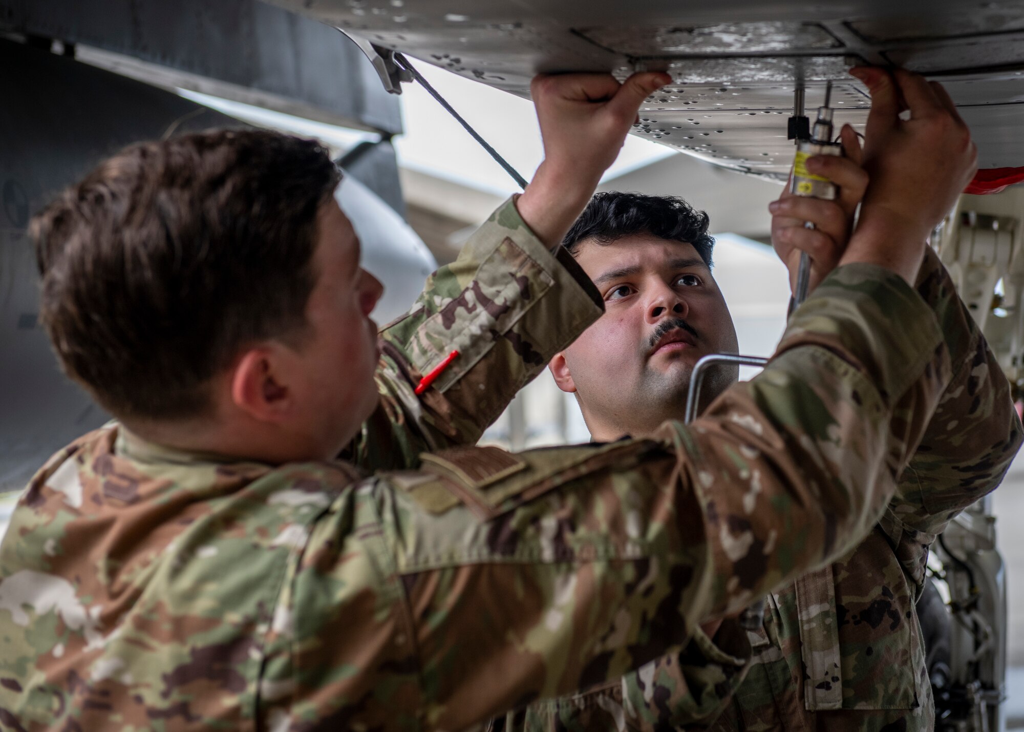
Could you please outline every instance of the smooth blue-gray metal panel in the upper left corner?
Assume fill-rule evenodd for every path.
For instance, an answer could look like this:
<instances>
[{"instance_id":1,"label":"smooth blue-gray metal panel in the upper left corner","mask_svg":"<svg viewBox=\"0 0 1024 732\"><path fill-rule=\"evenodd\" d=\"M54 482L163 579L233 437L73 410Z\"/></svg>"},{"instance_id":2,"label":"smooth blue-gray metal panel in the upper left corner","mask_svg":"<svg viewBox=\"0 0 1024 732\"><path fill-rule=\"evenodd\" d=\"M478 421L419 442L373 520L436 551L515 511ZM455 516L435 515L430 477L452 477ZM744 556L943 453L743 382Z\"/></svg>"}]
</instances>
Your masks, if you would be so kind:
<instances>
[{"instance_id":1,"label":"smooth blue-gray metal panel in the upper left corner","mask_svg":"<svg viewBox=\"0 0 1024 732\"><path fill-rule=\"evenodd\" d=\"M0 32L165 87L345 127L401 131L362 52L337 30L256 0L0 0Z\"/></svg>"}]
</instances>

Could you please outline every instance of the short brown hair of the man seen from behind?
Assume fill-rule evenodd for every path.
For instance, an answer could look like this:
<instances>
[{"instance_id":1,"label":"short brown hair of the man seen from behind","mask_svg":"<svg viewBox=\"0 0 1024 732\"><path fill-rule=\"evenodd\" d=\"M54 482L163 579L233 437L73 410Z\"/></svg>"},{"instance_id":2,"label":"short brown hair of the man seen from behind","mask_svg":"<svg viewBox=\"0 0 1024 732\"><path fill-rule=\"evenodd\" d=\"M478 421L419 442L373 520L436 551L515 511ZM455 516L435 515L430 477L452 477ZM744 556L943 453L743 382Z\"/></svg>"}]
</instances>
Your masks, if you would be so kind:
<instances>
[{"instance_id":1,"label":"short brown hair of the man seen from behind","mask_svg":"<svg viewBox=\"0 0 1024 732\"><path fill-rule=\"evenodd\" d=\"M120 418L207 413L211 378L242 349L304 334L316 216L339 180L318 143L266 130L100 163L29 230L65 372Z\"/></svg>"}]
</instances>

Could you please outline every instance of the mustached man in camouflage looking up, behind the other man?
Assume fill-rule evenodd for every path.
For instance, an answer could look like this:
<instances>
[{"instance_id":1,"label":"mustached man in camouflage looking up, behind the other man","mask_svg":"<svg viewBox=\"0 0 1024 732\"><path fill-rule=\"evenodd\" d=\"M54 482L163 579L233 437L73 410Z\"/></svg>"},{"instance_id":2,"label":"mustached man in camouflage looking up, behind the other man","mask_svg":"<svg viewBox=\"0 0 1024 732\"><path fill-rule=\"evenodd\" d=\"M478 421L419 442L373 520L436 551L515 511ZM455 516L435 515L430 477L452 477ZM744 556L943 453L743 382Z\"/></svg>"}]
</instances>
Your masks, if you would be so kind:
<instances>
[{"instance_id":1,"label":"mustached man in camouflage looking up, behind the other man","mask_svg":"<svg viewBox=\"0 0 1024 732\"><path fill-rule=\"evenodd\" d=\"M891 88L888 77L876 78L872 93ZM876 126L879 134L885 130ZM783 196L772 204L779 255L793 274L796 255L810 252L814 281L839 261L867 185L849 127L843 137L847 158L811 163L840 186L840 200ZM869 129L868 155L877 143ZM706 214L679 199L600 193L566 235L564 246L594 280L605 314L550 368L577 397L595 440L648 435L681 418L693 364L710 353L737 352L712 276L708 226ZM624 680L509 715L502 720L506 732L698 730L713 723L718 732L934 728L913 612L928 546L957 513L998 485L1022 435L1010 384L931 249L915 288L942 328L954 376L921 445L906 445L913 457L897 471L896 494L873 531L835 564L769 596L763 625L750 634L753 667L737 623L711 623L681 652ZM736 378L735 368L712 371L701 407L714 412L715 398ZM760 486L757 472L750 475L749 487L736 490L749 490L753 500Z\"/></svg>"}]
</instances>

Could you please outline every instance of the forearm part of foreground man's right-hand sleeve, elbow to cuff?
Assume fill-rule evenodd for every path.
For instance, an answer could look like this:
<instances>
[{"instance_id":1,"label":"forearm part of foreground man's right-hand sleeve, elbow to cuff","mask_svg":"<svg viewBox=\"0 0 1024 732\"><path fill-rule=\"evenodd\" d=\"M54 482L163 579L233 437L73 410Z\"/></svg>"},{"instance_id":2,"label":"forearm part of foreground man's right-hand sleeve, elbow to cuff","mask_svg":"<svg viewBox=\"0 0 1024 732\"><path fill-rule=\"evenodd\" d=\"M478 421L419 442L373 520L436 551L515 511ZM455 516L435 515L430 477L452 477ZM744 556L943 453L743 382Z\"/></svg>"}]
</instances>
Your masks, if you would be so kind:
<instances>
[{"instance_id":1,"label":"forearm part of foreground man's right-hand sleeve, elbow to cuff","mask_svg":"<svg viewBox=\"0 0 1024 732\"><path fill-rule=\"evenodd\" d=\"M769 368L693 424L710 464L739 465L721 487L705 469L716 478L709 516L728 517L709 528L722 537L712 544L716 576L749 582L753 600L792 565L811 569L856 543L891 497L948 378L935 318L905 283L863 266L833 273L791 319ZM746 447L730 450L727 438L741 433ZM730 556L736 541L760 545L778 566L763 559L744 578ZM715 588L716 612L741 607L727 591Z\"/></svg>"}]
</instances>

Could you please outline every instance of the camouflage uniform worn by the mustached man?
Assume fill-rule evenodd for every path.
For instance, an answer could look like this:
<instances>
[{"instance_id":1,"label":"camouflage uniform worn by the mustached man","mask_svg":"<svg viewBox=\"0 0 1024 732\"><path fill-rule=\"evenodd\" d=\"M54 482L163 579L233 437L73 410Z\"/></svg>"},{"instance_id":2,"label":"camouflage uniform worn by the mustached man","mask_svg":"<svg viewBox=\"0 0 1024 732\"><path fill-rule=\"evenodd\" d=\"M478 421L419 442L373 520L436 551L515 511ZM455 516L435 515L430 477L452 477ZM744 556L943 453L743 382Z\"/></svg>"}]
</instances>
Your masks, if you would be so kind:
<instances>
[{"instance_id":1,"label":"camouflage uniform worn by the mustached man","mask_svg":"<svg viewBox=\"0 0 1024 732\"><path fill-rule=\"evenodd\" d=\"M734 629L719 631L718 648L698 629L678 656L507 715L494 729L705 730L722 709L714 724L722 732L934 728L912 612L928 547L999 484L1020 447L1021 424L1010 384L932 250L916 284L942 328L954 376L874 530L830 567L769 597L763 627L750 634L750 672L748 656L723 657L724 644L735 647Z\"/></svg>"}]
</instances>

